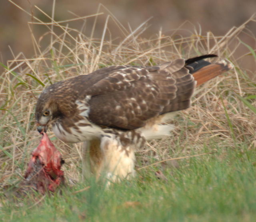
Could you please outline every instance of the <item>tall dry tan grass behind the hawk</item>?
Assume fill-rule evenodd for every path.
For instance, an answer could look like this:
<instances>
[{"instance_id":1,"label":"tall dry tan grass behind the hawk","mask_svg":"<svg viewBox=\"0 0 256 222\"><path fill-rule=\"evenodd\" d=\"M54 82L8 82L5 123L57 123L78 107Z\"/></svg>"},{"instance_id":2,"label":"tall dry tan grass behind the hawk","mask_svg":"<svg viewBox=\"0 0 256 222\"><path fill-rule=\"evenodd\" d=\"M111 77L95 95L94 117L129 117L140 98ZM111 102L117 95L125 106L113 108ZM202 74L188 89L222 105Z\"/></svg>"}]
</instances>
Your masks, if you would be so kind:
<instances>
[{"instance_id":1,"label":"tall dry tan grass behind the hawk","mask_svg":"<svg viewBox=\"0 0 256 222\"><path fill-rule=\"evenodd\" d=\"M92 16L97 22L97 14ZM238 151L256 148L256 114L237 97L256 95L256 85L250 81L255 72L240 68L241 61L253 55L248 49L248 54L234 57L238 47L244 46L239 41L241 32L248 33L248 38L256 40L245 28L248 22L256 22L255 17L238 28L231 28L225 36L214 36L210 32L202 35L198 30L191 31L191 35L186 37L179 36L178 30L174 30L172 36L164 36L160 30L150 39L140 38L146 24L141 24L134 31L126 30L112 15L106 20L101 39L93 37L93 30L90 37L84 36L79 30L69 27L68 21L56 22L51 16L48 17L52 22L46 24L34 18L36 24L29 24L31 30L34 25L46 26L49 30L39 40L34 38L31 31L34 58L28 59L22 53L14 56L0 76L2 185L22 178L30 153L39 143L40 135L34 124L34 107L43 89L40 82L49 85L109 65L150 65L177 57L188 58L208 53L218 54L221 59L227 58L235 65L234 70L200 87L193 106L180 112L174 119L176 129L171 138L152 141L137 152L142 166L170 157L204 153L206 147L209 151L216 147L234 147ZM85 25L86 17L77 19ZM124 34L118 44L111 39L109 22L115 22ZM62 34L57 35L56 30L62 31ZM49 42L45 49L40 47L42 40ZM255 100L250 102L256 107ZM49 135L54 137L52 133ZM66 161L63 167L66 176L78 180L81 173L81 144L70 145L56 139L54 145Z\"/></svg>"}]
</instances>

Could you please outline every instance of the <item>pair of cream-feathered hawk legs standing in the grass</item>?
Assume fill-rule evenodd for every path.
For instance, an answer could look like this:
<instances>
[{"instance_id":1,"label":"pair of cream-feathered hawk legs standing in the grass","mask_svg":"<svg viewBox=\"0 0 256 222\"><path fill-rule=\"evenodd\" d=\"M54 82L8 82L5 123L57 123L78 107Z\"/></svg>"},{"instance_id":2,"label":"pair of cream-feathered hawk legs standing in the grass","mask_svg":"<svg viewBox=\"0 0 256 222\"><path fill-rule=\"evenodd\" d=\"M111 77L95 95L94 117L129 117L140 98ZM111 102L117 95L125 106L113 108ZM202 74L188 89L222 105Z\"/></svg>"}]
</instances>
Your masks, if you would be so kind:
<instances>
[{"instance_id":1,"label":"pair of cream-feathered hawk legs standing in the grass","mask_svg":"<svg viewBox=\"0 0 256 222\"><path fill-rule=\"evenodd\" d=\"M83 175L103 176L112 182L131 178L135 174L134 152L144 143L144 137L135 131L105 130L100 140L84 143Z\"/></svg>"}]
</instances>

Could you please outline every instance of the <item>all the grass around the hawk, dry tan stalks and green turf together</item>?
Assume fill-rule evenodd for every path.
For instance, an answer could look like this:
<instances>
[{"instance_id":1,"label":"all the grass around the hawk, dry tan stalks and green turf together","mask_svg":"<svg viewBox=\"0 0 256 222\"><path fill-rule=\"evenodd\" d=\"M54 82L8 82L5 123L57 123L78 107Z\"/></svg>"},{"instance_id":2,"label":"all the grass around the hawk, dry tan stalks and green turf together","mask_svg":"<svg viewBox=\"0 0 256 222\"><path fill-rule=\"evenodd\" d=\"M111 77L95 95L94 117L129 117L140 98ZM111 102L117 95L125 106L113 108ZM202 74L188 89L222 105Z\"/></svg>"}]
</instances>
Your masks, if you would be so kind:
<instances>
[{"instance_id":1,"label":"all the grass around the hawk, dry tan stalks and green turf together","mask_svg":"<svg viewBox=\"0 0 256 222\"><path fill-rule=\"evenodd\" d=\"M245 28L248 22L255 23L255 16L240 27L231 28L225 36L210 32L204 36L198 30L188 30L190 34L182 37L174 30L171 36L160 31L144 39L140 34L145 24L130 31L110 15L102 38L95 39L93 31L90 37L84 36L37 9L52 22L34 18L35 22L29 25L31 30L38 23L48 28L51 35L40 38L49 42L48 46L40 47L31 32L35 57L28 59L21 53L1 64L2 220L254 221L255 71L240 64L248 59L255 63L256 57L255 49L242 42L239 35L244 33L256 42ZM95 21L97 16L94 15ZM112 40L108 22L115 22L124 34L120 41ZM238 56L241 48L245 54ZM62 188L62 194L28 194L20 198L6 193L6 186L22 180L30 153L39 143L34 106L44 85L109 65L154 65L207 53L228 58L235 69L198 89L193 106L173 120L173 137L150 141L137 151L136 178L108 189L93 179L82 183L81 144L65 144L49 133L66 161L63 170L67 186ZM201 155L204 153L207 154ZM192 155L198 156L181 159ZM179 159L164 161L171 158ZM164 162L152 165L160 161ZM157 171L164 175L160 176L162 179L155 175ZM87 189L81 191L84 188Z\"/></svg>"}]
</instances>

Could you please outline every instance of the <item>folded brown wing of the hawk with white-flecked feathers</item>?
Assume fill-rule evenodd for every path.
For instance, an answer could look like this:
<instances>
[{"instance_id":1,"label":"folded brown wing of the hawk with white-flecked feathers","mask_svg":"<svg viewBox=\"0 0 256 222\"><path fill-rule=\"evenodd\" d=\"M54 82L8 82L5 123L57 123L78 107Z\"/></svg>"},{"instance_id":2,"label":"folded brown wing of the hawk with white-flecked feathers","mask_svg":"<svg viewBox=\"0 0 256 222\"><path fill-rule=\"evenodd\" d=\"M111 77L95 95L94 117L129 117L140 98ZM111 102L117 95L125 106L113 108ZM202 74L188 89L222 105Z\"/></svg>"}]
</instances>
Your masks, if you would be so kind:
<instances>
[{"instance_id":1,"label":"folded brown wing of the hawk with white-flecked feathers","mask_svg":"<svg viewBox=\"0 0 256 222\"><path fill-rule=\"evenodd\" d=\"M190 107L196 82L184 65L184 59L176 59L110 72L85 92L92 95L89 119L97 125L136 129L156 115Z\"/></svg>"}]
</instances>

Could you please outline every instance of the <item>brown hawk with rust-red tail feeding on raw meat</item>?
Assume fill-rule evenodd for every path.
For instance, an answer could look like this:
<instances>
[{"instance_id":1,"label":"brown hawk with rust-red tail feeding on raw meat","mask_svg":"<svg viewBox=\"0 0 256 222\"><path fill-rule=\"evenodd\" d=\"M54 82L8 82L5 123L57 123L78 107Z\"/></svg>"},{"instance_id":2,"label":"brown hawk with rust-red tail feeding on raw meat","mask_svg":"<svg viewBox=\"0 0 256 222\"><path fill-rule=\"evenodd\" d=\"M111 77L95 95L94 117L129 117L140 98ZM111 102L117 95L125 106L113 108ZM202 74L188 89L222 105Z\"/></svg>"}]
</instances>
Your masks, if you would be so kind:
<instances>
[{"instance_id":1,"label":"brown hawk with rust-red tail feeding on raw meat","mask_svg":"<svg viewBox=\"0 0 256 222\"><path fill-rule=\"evenodd\" d=\"M38 131L48 125L68 143L84 142L83 174L112 181L134 175L134 152L170 135L165 122L187 109L196 86L232 68L202 55L155 66L118 65L50 85L36 104Z\"/></svg>"}]
</instances>

